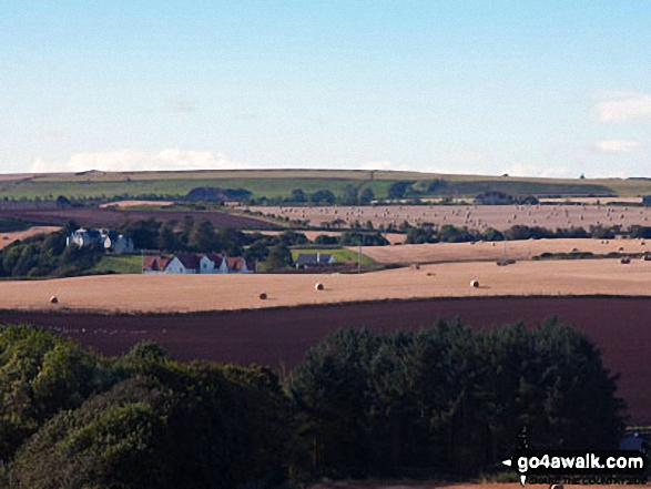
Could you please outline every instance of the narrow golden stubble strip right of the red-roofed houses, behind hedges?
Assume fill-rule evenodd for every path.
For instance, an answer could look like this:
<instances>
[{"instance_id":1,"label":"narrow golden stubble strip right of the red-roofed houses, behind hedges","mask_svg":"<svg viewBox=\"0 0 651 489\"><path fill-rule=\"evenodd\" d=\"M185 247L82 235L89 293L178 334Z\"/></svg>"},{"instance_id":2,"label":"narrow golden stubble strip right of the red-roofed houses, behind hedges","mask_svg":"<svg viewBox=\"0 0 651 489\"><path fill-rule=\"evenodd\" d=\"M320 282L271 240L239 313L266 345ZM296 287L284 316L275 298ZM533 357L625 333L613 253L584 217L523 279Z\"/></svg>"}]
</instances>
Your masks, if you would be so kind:
<instances>
[{"instance_id":1,"label":"narrow golden stubble strip right of the red-roofed houses, behind hedges","mask_svg":"<svg viewBox=\"0 0 651 489\"><path fill-rule=\"evenodd\" d=\"M353 249L353 248L350 248ZM354 248L357 249L357 248ZM365 246L363 253L378 263L444 263L531 259L542 253L590 252L639 254L651 251L651 240L525 240L509 242L434 243L403 246Z\"/></svg>"}]
</instances>

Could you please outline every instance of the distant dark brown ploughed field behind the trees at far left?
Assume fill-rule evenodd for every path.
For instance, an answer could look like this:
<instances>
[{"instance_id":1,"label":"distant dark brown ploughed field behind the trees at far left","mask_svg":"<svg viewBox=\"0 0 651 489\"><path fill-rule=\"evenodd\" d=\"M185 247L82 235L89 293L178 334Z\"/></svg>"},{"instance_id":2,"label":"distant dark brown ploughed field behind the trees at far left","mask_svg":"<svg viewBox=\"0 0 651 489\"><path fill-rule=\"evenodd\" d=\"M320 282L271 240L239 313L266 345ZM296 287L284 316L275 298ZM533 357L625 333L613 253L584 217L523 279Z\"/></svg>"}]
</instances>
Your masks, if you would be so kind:
<instances>
[{"instance_id":1,"label":"distant dark brown ploughed field behind the trees at far left","mask_svg":"<svg viewBox=\"0 0 651 489\"><path fill-rule=\"evenodd\" d=\"M115 208L26 208L0 210L0 217L16 217L39 224L60 224L74 221L87 226L118 226L126 221L142 221L153 217L156 221L181 222L185 216L194 220L208 220L216 227L271 228L268 222L223 212L199 211L119 211Z\"/></svg>"}]
</instances>

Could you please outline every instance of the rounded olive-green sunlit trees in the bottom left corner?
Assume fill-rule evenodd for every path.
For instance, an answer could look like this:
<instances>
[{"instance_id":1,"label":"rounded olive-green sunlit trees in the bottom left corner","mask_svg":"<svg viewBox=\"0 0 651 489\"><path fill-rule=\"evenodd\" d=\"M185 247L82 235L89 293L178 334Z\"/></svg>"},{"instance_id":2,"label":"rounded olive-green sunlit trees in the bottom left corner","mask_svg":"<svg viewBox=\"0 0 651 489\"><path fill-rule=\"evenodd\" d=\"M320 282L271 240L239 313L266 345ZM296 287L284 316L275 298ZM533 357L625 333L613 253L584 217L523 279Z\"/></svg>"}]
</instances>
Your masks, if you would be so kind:
<instances>
[{"instance_id":1,"label":"rounded olive-green sunlit trees in the bottom left corner","mask_svg":"<svg viewBox=\"0 0 651 489\"><path fill-rule=\"evenodd\" d=\"M12 326L0 371L1 487L235 488L301 459L268 368L181 364L152 344L103 359Z\"/></svg>"}]
</instances>

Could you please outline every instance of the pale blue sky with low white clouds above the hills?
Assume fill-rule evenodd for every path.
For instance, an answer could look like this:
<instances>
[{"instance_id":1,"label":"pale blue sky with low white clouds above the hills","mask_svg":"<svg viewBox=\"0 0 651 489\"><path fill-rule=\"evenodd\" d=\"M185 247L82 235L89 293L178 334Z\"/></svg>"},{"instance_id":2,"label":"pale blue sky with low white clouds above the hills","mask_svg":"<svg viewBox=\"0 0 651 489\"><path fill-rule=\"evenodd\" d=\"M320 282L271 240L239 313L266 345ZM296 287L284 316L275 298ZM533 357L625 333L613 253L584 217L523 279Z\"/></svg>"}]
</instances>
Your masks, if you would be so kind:
<instances>
[{"instance_id":1,"label":"pale blue sky with low white clouds above the hills","mask_svg":"<svg viewBox=\"0 0 651 489\"><path fill-rule=\"evenodd\" d=\"M0 1L0 173L651 176L651 2Z\"/></svg>"}]
</instances>

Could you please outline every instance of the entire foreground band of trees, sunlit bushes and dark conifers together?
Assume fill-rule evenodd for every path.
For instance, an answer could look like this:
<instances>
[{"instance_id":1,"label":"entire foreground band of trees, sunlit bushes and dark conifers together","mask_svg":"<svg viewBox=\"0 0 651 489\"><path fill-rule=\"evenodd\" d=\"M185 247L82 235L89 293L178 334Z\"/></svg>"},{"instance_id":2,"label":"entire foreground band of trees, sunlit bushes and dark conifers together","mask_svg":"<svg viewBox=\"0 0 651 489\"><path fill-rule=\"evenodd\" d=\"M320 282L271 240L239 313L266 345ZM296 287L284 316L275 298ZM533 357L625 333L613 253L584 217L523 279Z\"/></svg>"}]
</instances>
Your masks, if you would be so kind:
<instances>
[{"instance_id":1,"label":"entire foreground band of trees, sunlit bushes and dark conifers together","mask_svg":"<svg viewBox=\"0 0 651 489\"><path fill-rule=\"evenodd\" d=\"M623 408L594 345L553 318L538 328L452 320L389 335L339 330L286 378L182 364L151 343L102 357L9 326L0 330L0 487L474 477L498 470L523 427L535 447L616 447Z\"/></svg>"}]
</instances>

